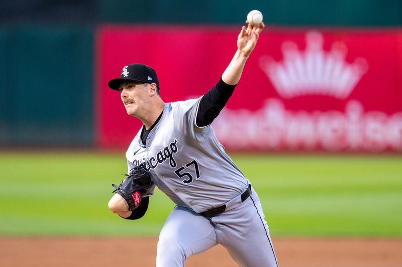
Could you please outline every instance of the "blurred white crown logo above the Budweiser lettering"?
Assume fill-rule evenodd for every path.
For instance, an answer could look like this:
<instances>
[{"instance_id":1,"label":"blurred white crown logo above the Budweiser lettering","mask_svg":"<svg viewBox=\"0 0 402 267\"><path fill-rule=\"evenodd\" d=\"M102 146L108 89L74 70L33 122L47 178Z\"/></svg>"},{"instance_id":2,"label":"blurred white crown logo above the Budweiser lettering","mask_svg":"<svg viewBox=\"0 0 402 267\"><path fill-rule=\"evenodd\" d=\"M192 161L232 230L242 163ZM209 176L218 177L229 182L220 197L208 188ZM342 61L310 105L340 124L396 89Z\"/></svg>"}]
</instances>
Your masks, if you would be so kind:
<instances>
[{"instance_id":1,"label":"blurred white crown logo above the Budweiser lettering","mask_svg":"<svg viewBox=\"0 0 402 267\"><path fill-rule=\"evenodd\" d=\"M284 42L282 62L275 62L270 56L260 58L260 67L278 94L284 98L300 95L347 98L367 72L366 60L357 58L352 64L347 63L347 48L340 42L334 43L331 51L324 51L323 36L316 31L306 34L306 43L302 52L295 43Z\"/></svg>"}]
</instances>

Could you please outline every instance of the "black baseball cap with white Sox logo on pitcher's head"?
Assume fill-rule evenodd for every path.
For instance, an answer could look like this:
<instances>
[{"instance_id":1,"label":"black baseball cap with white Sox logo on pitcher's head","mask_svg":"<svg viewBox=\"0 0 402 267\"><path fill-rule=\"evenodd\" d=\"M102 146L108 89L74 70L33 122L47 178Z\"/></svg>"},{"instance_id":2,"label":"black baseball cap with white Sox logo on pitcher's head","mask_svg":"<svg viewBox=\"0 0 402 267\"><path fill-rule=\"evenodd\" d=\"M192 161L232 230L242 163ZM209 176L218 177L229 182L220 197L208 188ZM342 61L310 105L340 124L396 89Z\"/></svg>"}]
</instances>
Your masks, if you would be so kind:
<instances>
[{"instance_id":1,"label":"black baseball cap with white Sox logo on pitcher's head","mask_svg":"<svg viewBox=\"0 0 402 267\"><path fill-rule=\"evenodd\" d=\"M137 81L143 83L155 83L159 89L158 76L151 67L144 64L130 64L122 70L120 78L109 81L108 86L113 90L119 90L122 82Z\"/></svg>"}]
</instances>

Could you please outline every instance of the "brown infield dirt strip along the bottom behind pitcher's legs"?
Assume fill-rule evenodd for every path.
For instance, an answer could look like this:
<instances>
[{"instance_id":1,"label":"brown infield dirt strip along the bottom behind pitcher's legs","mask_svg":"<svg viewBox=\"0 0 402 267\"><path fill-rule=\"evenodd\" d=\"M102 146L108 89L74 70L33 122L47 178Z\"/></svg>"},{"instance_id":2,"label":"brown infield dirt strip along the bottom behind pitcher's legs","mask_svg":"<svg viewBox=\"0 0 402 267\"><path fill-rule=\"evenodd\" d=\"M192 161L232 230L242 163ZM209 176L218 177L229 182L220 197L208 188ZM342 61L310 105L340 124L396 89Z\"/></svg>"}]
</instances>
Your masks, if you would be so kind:
<instances>
[{"instance_id":1,"label":"brown infield dirt strip along the bottom behind pitcher's legs","mask_svg":"<svg viewBox=\"0 0 402 267\"><path fill-rule=\"evenodd\" d=\"M273 237L279 266L401 266L402 238ZM156 237L0 237L2 266L155 266ZM186 267L238 266L221 245Z\"/></svg>"}]
</instances>

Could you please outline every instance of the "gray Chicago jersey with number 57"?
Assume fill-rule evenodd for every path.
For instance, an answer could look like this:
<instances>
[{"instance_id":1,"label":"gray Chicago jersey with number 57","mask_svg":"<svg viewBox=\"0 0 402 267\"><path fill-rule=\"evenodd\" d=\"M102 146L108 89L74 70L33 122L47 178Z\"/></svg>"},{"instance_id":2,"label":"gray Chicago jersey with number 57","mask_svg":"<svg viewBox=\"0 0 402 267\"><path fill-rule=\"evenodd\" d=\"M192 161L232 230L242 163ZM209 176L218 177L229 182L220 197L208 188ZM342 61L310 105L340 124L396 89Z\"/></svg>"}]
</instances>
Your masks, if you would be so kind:
<instances>
[{"instance_id":1,"label":"gray Chicago jersey with number 57","mask_svg":"<svg viewBox=\"0 0 402 267\"><path fill-rule=\"evenodd\" d=\"M145 166L155 185L173 202L197 213L223 205L249 183L225 153L212 126L196 126L199 99L166 103L146 145L140 130L126 153L129 170Z\"/></svg>"}]
</instances>

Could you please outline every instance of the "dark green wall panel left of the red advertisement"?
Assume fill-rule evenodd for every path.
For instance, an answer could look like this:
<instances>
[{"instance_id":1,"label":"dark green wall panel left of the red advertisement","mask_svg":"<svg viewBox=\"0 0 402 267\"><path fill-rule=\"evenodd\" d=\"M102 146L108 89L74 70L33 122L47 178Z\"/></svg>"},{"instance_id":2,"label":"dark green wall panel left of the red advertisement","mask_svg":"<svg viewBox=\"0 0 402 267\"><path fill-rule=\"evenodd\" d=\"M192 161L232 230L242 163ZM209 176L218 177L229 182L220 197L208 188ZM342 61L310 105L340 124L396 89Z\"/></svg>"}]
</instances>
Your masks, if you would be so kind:
<instances>
[{"instance_id":1,"label":"dark green wall panel left of the red advertisement","mask_svg":"<svg viewBox=\"0 0 402 267\"><path fill-rule=\"evenodd\" d=\"M0 29L0 144L92 143L92 36L71 26Z\"/></svg>"}]
</instances>

